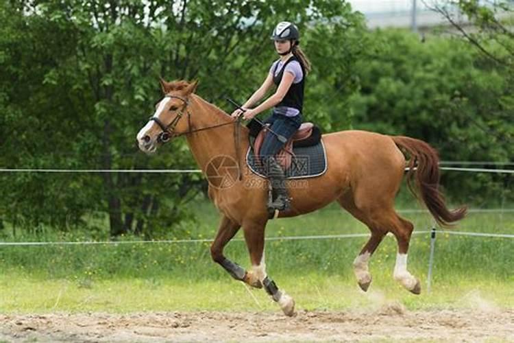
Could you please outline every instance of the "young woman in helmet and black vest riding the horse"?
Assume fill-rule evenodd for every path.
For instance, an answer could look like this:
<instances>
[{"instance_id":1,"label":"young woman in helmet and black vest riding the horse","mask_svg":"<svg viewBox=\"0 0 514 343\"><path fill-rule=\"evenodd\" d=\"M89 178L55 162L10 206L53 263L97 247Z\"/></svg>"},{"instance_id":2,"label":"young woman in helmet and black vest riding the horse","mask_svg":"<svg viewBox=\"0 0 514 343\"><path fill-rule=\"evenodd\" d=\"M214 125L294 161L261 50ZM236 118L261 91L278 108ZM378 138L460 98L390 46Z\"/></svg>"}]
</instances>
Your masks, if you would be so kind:
<instances>
[{"instance_id":1,"label":"young woman in helmet and black vest riding the horse","mask_svg":"<svg viewBox=\"0 0 514 343\"><path fill-rule=\"evenodd\" d=\"M271 125L276 134L268 133L260 148L260 158L263 161L271 187L276 191L277 198L270 209L285 211L289 209L290 199L285 185L284 171L274 158L285 142L291 138L302 124L302 107L304 104L305 76L310 71L310 62L299 48L299 32L297 27L288 21L282 21L273 30L271 39L275 41L275 49L280 58L271 64L266 80L255 93L243 104L243 110L237 109L232 117L243 115L244 119L252 119L258 113L273 106L273 113L265 120ZM251 108L262 99L275 84L276 92L259 106Z\"/></svg>"}]
</instances>

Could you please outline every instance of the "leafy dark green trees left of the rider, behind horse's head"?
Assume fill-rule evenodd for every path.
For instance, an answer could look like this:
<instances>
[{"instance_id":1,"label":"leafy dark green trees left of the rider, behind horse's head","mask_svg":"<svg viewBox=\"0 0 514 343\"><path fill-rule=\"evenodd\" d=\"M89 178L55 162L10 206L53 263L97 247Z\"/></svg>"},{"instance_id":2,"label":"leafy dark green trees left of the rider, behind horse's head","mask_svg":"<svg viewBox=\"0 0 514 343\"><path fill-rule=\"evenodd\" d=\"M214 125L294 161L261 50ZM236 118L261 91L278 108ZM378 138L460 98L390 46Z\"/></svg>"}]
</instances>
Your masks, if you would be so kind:
<instances>
[{"instance_id":1,"label":"leafy dark green trees left of the rider, behind horse's head","mask_svg":"<svg viewBox=\"0 0 514 343\"><path fill-rule=\"evenodd\" d=\"M2 0L0 110L5 117L0 133L6 142L1 165L191 167L184 140L151 158L134 145L160 97L158 77L198 78L199 93L211 101L228 94L242 99L275 58L269 32L284 16L306 30L313 20L326 20L320 25L330 25L333 40L352 25L363 27L349 5L335 0L297 5L130 0L115 6L106 0ZM334 21L339 18L347 23ZM188 219L184 205L204 182L194 174L0 177L3 219L15 226L67 230L99 211L108 213L112 236L145 237L160 235L159 228L180 227Z\"/></svg>"}]
</instances>

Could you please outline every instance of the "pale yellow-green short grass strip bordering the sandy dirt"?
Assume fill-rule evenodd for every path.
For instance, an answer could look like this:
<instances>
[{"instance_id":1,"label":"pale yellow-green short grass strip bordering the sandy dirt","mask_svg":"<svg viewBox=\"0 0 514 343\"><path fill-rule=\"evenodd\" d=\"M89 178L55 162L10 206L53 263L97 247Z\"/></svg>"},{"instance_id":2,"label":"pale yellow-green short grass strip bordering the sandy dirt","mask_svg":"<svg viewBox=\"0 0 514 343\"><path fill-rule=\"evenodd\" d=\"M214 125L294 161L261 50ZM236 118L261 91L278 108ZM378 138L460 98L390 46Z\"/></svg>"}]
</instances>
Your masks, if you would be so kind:
<instances>
[{"instance_id":1,"label":"pale yellow-green short grass strip bordering the sandy dirt","mask_svg":"<svg viewBox=\"0 0 514 343\"><path fill-rule=\"evenodd\" d=\"M3 313L278 310L262 289L247 289L228 277L201 282L178 277L117 278L84 285L66 279L38 280L16 273L9 276L8 281L0 284ZM430 294L424 292L420 296L408 293L393 281L390 273L382 272L375 273L368 293L341 275L279 273L276 280L295 298L297 309L376 309L389 303L401 303L411 310L514 307L513 283L493 279L477 281L461 276L453 284L436 283Z\"/></svg>"}]
</instances>

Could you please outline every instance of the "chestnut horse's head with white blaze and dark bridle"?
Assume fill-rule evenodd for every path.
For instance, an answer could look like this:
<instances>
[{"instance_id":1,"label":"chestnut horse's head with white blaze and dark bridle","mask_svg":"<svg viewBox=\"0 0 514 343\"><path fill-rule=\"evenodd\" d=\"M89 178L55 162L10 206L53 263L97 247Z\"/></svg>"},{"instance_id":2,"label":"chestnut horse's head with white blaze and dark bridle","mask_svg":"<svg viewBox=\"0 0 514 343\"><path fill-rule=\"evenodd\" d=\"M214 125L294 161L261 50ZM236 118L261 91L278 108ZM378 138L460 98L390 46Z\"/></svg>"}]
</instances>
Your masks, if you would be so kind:
<instances>
[{"instance_id":1,"label":"chestnut horse's head with white blaze and dark bridle","mask_svg":"<svg viewBox=\"0 0 514 343\"><path fill-rule=\"evenodd\" d=\"M164 97L157 102L156 111L148 123L138 132L139 149L146 153L156 152L157 148L169 141L173 136L184 134L190 130L188 104L189 95L193 93L198 82L186 81L166 82L160 80Z\"/></svg>"}]
</instances>

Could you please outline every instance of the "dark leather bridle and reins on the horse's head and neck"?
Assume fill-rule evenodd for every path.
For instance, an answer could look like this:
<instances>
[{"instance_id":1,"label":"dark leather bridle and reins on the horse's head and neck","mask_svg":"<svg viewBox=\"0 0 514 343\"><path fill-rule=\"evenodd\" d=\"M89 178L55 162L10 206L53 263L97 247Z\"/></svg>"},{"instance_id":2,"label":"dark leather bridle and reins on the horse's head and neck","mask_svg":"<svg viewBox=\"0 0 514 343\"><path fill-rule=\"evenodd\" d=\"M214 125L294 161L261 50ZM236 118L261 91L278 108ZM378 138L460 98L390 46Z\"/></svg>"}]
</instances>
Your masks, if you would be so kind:
<instances>
[{"instance_id":1,"label":"dark leather bridle and reins on the horse's head and neck","mask_svg":"<svg viewBox=\"0 0 514 343\"><path fill-rule=\"evenodd\" d=\"M162 132L160 132L160 134L157 137L157 141L159 143L164 144L164 143L169 142L172 137L179 137L184 134L191 134L193 132L199 132L199 131L208 130L211 128L219 128L220 126L234 124L235 125L234 143L235 143L235 148L236 148L236 158L237 158L238 169L239 169L238 178L239 178L239 180L241 180L242 172L241 172L241 165L239 165L240 164L239 137L240 137L240 129L241 129L241 125L240 125L241 117L238 117L238 119L236 119L234 121L228 121L227 123L221 123L221 124L217 124L217 125L213 125L213 126L207 126L205 128L197 128L195 130L191 130L191 113L188 110L189 99L184 98L184 97L179 97L178 95L168 95L168 94L164 95L164 97L169 97L171 99L180 99L180 100L182 100L182 102L184 102L184 105L182 106L182 108L180 108L178 114L176 115L175 118L173 118L173 120L171 121L171 123L169 123L168 126L164 125L164 123L162 123L162 121L158 117L154 117L154 116L150 117L149 121L155 121L157 123L157 125L160 127L160 129L162 130ZM164 97L163 97L163 99L164 99ZM188 130L186 132L175 133L175 127L177 126L180 119L182 119L182 117L184 117L184 110L186 111L186 114L187 114Z\"/></svg>"}]
</instances>

